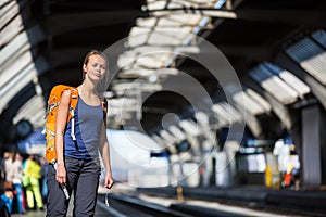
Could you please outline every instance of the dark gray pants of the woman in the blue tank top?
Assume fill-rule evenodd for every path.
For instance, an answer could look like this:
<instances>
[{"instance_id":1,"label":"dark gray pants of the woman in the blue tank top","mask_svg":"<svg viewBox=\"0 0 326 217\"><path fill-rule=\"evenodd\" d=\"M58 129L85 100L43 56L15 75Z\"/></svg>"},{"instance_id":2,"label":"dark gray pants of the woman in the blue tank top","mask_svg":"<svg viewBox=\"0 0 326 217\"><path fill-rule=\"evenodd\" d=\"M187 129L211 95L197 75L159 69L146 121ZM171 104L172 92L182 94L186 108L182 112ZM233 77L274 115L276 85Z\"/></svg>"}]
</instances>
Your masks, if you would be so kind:
<instances>
[{"instance_id":1,"label":"dark gray pants of the woman in the blue tank top","mask_svg":"<svg viewBox=\"0 0 326 217\"><path fill-rule=\"evenodd\" d=\"M95 216L100 176L99 162L65 157L65 168L67 173L67 190L70 194L74 191L74 216ZM48 168L47 183L47 217L66 216L70 201L65 199L60 184L57 182L55 169L51 164Z\"/></svg>"}]
</instances>

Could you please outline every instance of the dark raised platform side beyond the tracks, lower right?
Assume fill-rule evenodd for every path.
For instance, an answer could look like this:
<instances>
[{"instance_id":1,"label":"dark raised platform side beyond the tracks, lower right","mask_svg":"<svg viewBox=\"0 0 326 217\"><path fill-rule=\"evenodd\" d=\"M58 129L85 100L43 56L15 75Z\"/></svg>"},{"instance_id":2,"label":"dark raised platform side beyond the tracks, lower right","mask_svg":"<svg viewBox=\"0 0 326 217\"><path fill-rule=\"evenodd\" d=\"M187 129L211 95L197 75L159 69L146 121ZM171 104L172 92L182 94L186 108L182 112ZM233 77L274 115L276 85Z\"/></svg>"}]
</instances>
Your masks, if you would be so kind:
<instances>
[{"instance_id":1,"label":"dark raised platform side beyond the tracks, lower right","mask_svg":"<svg viewBox=\"0 0 326 217\"><path fill-rule=\"evenodd\" d=\"M179 190L180 191L180 190ZM178 197L177 188L142 188L138 193L156 196ZM303 216L326 216L326 191L317 190L272 190L264 187L239 188L181 188L181 196L189 200L220 202L258 209L274 209ZM175 204L183 208L183 204Z\"/></svg>"}]
</instances>

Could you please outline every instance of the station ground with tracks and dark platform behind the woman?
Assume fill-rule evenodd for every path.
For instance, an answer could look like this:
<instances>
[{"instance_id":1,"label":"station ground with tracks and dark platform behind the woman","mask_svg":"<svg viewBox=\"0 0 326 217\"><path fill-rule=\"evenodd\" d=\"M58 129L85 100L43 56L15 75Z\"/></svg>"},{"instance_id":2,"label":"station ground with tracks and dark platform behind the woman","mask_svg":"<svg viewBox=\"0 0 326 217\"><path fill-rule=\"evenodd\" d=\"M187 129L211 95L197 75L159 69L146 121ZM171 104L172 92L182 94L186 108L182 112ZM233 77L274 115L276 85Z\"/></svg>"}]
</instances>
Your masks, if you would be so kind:
<instances>
[{"instance_id":1,"label":"station ground with tracks and dark platform behind the woman","mask_svg":"<svg viewBox=\"0 0 326 217\"><path fill-rule=\"evenodd\" d=\"M145 209L159 212L147 216L326 216L326 191L314 190L165 187L110 190L106 204L105 196L99 191L96 217L135 216ZM67 217L73 216L71 207ZM45 217L46 212L12 215L21 216Z\"/></svg>"}]
</instances>

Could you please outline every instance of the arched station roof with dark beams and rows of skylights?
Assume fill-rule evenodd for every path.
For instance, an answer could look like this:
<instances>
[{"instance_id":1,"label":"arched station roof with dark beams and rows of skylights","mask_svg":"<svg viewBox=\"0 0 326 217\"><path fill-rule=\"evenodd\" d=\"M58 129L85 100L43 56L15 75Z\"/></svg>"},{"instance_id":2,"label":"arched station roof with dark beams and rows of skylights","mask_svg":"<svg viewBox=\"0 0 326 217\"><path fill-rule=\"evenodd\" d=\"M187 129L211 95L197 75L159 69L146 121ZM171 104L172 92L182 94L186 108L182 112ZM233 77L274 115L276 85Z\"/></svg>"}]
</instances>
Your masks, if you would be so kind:
<instances>
[{"instance_id":1,"label":"arched station roof with dark beams and rows of skylights","mask_svg":"<svg viewBox=\"0 0 326 217\"><path fill-rule=\"evenodd\" d=\"M210 129L244 122L258 138L271 135L266 123L289 130L291 110L326 107L325 9L317 0L1 1L0 141L14 142L24 119L43 127L51 87L80 84L91 49L110 59L112 128L141 125L162 140L171 126L192 133L206 115ZM200 62L214 63L208 43L241 90Z\"/></svg>"}]
</instances>

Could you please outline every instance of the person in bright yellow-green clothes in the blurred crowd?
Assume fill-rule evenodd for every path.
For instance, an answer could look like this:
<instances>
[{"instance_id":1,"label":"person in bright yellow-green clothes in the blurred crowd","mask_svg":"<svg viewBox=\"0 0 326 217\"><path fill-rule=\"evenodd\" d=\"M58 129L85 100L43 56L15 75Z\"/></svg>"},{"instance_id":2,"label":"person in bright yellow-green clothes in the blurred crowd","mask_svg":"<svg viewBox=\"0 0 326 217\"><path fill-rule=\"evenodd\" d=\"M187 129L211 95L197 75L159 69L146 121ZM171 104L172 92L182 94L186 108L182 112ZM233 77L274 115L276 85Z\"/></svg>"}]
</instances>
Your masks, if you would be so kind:
<instances>
[{"instance_id":1,"label":"person in bright yellow-green clothes in the blurred crowd","mask_svg":"<svg viewBox=\"0 0 326 217\"><path fill-rule=\"evenodd\" d=\"M39 179L41 178L40 170L41 170L41 166L37 161L37 156L29 155L24 166L24 176L28 180L27 182L29 182L27 183L27 186L25 186L28 209L36 208L34 206L34 197L35 197L37 208L43 210L43 202L42 202L42 196L39 187Z\"/></svg>"}]
</instances>

